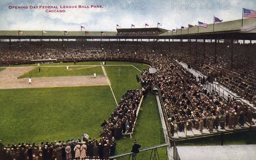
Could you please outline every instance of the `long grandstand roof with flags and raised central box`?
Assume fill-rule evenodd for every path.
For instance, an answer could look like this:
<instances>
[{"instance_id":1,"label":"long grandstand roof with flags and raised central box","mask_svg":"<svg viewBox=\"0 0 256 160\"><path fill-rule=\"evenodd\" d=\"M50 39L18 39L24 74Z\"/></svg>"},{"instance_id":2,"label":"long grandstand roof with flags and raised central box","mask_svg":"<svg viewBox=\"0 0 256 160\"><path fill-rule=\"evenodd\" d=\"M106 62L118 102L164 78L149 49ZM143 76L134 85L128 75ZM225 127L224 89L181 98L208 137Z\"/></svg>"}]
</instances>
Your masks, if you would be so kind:
<instances>
[{"instance_id":1,"label":"long grandstand roof with flags and raised central box","mask_svg":"<svg viewBox=\"0 0 256 160\"><path fill-rule=\"evenodd\" d=\"M140 29L117 29L116 31L105 31L105 35L101 31L0 31L0 39L239 39L239 40L256 40L256 18L244 18L243 27L242 20L233 20L221 23L209 24L207 28L195 26L186 30L178 30L177 32L168 32L166 29L160 28L140 28ZM124 31L157 31L158 34L134 34L134 35L118 35L117 33Z\"/></svg>"}]
</instances>

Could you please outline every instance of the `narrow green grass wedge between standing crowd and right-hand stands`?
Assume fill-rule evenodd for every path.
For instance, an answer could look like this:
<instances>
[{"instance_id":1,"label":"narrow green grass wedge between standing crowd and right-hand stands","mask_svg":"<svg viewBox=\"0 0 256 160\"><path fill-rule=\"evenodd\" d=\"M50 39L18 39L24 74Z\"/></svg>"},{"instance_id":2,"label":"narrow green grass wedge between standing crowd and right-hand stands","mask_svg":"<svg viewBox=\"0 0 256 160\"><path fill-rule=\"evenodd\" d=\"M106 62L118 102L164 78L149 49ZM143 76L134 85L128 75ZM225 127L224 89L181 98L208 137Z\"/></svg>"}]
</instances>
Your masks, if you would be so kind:
<instances>
[{"instance_id":1,"label":"narrow green grass wedge between standing crowd and right-hand stands","mask_svg":"<svg viewBox=\"0 0 256 160\"><path fill-rule=\"evenodd\" d=\"M145 147L155 146L160 144L160 129L162 128L159 110L157 107L157 100L154 94L149 93L145 99L143 99L142 106L140 108L139 116L134 129L132 138L127 136L121 140L117 140L116 154L131 151L134 139L141 145L140 149ZM168 160L166 155L166 147L157 149L160 160ZM138 160L149 160L151 154L150 151L144 151L137 154ZM118 160L127 159L129 156L120 157Z\"/></svg>"}]
</instances>

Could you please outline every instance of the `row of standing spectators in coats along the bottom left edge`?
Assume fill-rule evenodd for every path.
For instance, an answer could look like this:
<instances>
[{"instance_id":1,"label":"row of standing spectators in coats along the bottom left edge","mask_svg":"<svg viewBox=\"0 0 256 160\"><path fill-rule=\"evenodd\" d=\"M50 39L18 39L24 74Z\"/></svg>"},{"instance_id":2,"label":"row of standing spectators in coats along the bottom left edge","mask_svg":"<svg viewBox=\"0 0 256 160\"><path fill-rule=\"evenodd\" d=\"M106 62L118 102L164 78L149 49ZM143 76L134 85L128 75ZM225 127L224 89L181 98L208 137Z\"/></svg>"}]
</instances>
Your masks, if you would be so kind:
<instances>
[{"instance_id":1,"label":"row of standing spectators in coats along the bottom left edge","mask_svg":"<svg viewBox=\"0 0 256 160\"><path fill-rule=\"evenodd\" d=\"M102 138L99 141L89 138L83 140L55 141L54 143L19 143L0 142L1 160L108 160L116 151L115 138Z\"/></svg>"}]
</instances>

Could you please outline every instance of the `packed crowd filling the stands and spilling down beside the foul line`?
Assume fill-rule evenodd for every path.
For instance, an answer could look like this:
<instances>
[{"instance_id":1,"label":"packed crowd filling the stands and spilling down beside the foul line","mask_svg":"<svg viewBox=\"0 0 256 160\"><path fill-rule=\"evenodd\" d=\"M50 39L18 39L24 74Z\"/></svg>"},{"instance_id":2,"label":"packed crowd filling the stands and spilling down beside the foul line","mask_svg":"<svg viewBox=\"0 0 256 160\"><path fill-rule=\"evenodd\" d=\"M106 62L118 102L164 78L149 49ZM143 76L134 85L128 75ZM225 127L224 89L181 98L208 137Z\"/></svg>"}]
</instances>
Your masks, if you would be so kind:
<instances>
[{"instance_id":1,"label":"packed crowd filling the stands and spilling down beside the foul line","mask_svg":"<svg viewBox=\"0 0 256 160\"><path fill-rule=\"evenodd\" d=\"M156 74L149 74L144 70L137 79L143 89L128 90L123 95L121 102L102 128L101 136L107 140L112 137L119 139L122 134L131 133L140 99L150 88L159 88L172 131L183 131L185 127L188 130L195 128L201 131L207 128L212 131L214 128L218 129L218 126L221 129L233 129L237 125L244 126L245 123L255 125L253 117L255 118L256 115L253 109L236 100L235 97L229 96L226 100L217 92L208 91L197 77L175 61L177 59L189 64L193 69L212 77L255 103L256 57L253 54L255 44L234 44L234 67L230 70L230 48L225 47L227 44L218 44L217 63L214 63L214 44L207 44L204 54L203 47L199 43L198 51L195 51L193 46L195 44L191 45L189 42L183 44L141 42L144 48L136 52L123 51L122 43L138 44L139 42L119 42L118 50L111 49L113 43L116 44L116 42L102 42L103 46L100 46L100 49L84 49L81 42L69 42L65 49L59 46L54 48L53 44L47 43L46 46L49 47L46 49L32 47L31 51L35 50L35 52L5 49L0 60L3 64L19 60L44 59L44 56L51 55L51 58L58 60L137 60L150 63L157 69ZM95 47L94 43L87 42L87 46L90 44L92 48Z\"/></svg>"}]
</instances>

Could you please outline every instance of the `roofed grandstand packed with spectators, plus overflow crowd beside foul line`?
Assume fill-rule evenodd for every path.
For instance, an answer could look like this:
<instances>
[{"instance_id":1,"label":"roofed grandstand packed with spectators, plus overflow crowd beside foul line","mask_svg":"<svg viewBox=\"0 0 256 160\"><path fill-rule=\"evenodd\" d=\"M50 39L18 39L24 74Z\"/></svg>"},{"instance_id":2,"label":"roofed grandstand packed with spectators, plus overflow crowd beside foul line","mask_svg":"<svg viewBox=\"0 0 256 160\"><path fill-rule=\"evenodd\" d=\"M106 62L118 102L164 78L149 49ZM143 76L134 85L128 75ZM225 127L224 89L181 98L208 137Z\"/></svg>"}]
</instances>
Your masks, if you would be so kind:
<instances>
[{"instance_id":1,"label":"roofed grandstand packed with spectators, plus overflow crowd beside foul line","mask_svg":"<svg viewBox=\"0 0 256 160\"><path fill-rule=\"evenodd\" d=\"M108 124L103 126L101 137L111 140L114 134L109 131L122 128L125 122L116 122L121 115L130 114L128 119L133 126L137 118L133 112L150 91L157 92L162 110L166 141L163 146L171 144L169 138L179 141L256 129L256 44L237 43L256 40L255 18L244 19L243 27L241 20L216 23L214 31L210 24L206 29L195 26L175 33L160 28L117 29L105 31L105 35L101 31L45 32L0 31L0 65L49 60L126 61L156 69L154 74L141 72L138 81L143 89L129 90L123 95ZM195 76L192 72L200 74ZM216 90L217 85L208 89L211 84L221 86L223 94ZM230 95L224 95L224 88ZM117 124L116 128L112 124Z\"/></svg>"}]
</instances>

